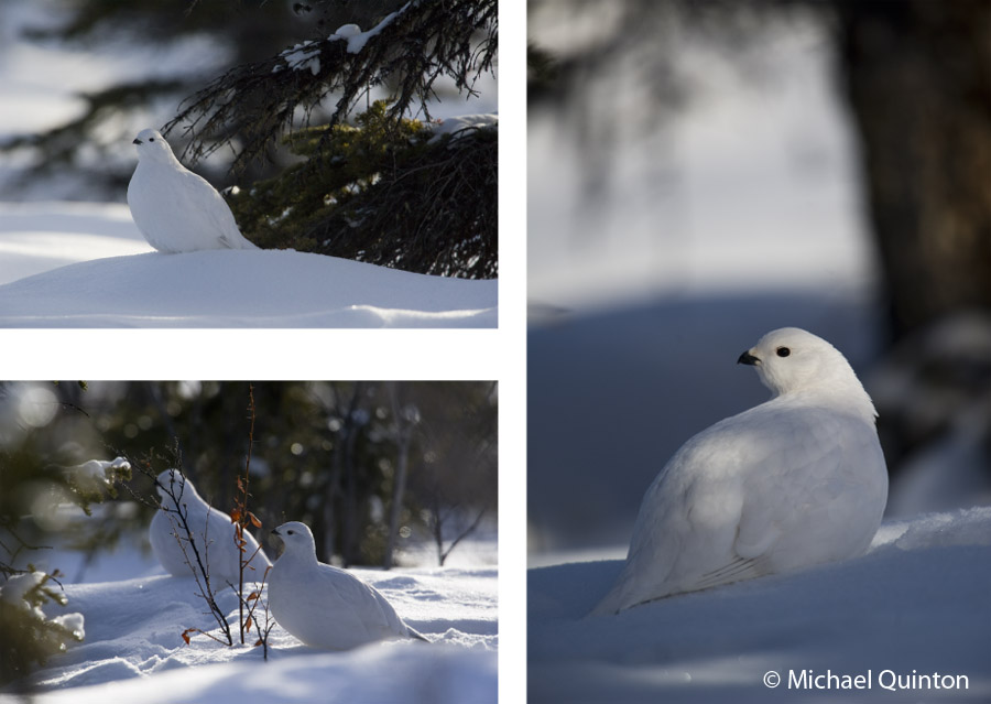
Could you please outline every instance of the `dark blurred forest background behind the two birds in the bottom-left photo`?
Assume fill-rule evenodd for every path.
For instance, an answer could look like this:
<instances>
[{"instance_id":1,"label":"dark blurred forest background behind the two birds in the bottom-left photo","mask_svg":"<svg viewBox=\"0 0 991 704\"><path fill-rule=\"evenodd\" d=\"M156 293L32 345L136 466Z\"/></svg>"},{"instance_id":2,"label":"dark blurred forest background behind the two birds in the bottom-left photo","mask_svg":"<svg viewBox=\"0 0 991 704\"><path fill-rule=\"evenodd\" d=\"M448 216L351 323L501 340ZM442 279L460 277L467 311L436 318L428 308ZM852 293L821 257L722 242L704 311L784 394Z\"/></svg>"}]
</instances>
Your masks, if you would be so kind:
<instances>
[{"instance_id":1,"label":"dark blurred forest background behind the two birds in the bottom-left photo","mask_svg":"<svg viewBox=\"0 0 991 704\"><path fill-rule=\"evenodd\" d=\"M248 508L273 559L269 532L300 520L334 564L496 564L497 413L494 382L4 382L0 568L141 576L152 477L181 467L229 513L249 444ZM113 491L78 467L117 456L131 477Z\"/></svg>"}]
</instances>

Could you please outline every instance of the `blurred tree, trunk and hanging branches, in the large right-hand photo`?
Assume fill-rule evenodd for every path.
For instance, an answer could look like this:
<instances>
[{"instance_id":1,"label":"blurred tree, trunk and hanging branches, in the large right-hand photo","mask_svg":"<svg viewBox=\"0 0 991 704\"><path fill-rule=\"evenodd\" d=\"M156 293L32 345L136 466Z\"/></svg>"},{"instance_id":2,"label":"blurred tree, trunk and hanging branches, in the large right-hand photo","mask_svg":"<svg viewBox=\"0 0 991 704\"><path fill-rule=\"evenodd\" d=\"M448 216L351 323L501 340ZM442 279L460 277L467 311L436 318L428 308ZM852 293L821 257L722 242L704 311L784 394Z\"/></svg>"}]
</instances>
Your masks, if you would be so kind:
<instances>
[{"instance_id":1,"label":"blurred tree, trunk and hanging branches, in the large right-hand photo","mask_svg":"<svg viewBox=\"0 0 991 704\"><path fill-rule=\"evenodd\" d=\"M576 48L551 52L534 36L529 54L530 107L566 116L563 124L589 160L592 194L601 191L617 130L612 105L587 102L591 77L622 61L642 87L640 109L624 126L655 130L690 97L690 83L672 61L682 29L716 37L733 63L742 47L766 36L762 19L817 19L835 40L861 137L892 340L952 311L991 310L987 0L623 0L608 8L532 0L530 9L597 20Z\"/></svg>"}]
</instances>

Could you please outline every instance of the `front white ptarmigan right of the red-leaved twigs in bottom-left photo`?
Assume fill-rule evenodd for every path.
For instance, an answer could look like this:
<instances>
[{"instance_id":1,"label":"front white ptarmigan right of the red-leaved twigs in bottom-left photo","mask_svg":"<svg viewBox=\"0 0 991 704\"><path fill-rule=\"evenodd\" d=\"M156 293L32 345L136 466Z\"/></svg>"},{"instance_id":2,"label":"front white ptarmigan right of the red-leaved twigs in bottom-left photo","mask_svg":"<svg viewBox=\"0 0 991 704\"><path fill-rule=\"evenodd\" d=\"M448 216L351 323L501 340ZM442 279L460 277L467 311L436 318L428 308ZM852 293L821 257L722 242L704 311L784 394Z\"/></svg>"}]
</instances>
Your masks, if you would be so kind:
<instances>
[{"instance_id":1,"label":"front white ptarmigan right of the red-leaved twigs in bottom-left photo","mask_svg":"<svg viewBox=\"0 0 991 704\"><path fill-rule=\"evenodd\" d=\"M312 648L349 650L377 640L426 640L406 626L374 587L318 562L306 523L272 531L285 544L269 575L269 608L275 621Z\"/></svg>"}]
</instances>

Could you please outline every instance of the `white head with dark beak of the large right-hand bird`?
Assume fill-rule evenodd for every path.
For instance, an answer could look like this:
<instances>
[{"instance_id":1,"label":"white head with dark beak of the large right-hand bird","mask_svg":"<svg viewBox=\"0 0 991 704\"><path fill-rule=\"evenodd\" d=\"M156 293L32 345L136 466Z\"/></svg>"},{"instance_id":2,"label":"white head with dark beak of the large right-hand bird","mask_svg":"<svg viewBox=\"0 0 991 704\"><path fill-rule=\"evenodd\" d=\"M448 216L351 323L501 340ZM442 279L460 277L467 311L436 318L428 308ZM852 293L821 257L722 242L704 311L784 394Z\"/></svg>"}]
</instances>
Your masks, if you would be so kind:
<instances>
[{"instance_id":1,"label":"white head with dark beak of the large right-hand bird","mask_svg":"<svg viewBox=\"0 0 991 704\"><path fill-rule=\"evenodd\" d=\"M823 392L849 400L871 419L876 415L847 358L825 339L804 329L782 327L767 333L740 355L737 364L752 365L761 383L774 397Z\"/></svg>"}]
</instances>

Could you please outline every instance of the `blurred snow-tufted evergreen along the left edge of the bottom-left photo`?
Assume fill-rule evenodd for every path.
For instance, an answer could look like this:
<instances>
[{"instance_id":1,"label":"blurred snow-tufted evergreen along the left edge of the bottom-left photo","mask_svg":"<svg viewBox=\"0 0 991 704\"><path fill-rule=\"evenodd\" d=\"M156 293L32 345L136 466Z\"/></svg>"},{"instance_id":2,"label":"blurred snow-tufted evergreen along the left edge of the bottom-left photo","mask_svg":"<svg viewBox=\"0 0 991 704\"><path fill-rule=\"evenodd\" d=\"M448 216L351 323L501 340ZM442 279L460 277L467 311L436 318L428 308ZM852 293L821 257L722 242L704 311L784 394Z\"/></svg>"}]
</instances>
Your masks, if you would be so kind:
<instances>
[{"instance_id":1,"label":"blurred snow-tufted evergreen along the left edge of the bottom-left photo","mask_svg":"<svg viewBox=\"0 0 991 704\"><path fill-rule=\"evenodd\" d=\"M34 665L64 651L67 641L83 640L81 615L42 610L67 600L58 568L35 565L50 541L69 528L59 543L112 544L112 531L102 531L99 521L79 521L68 507L90 516L91 503L116 496L115 483L130 478L126 462L90 459L102 447L77 403L83 388L0 385L0 684L14 691L30 689L25 678Z\"/></svg>"}]
</instances>

